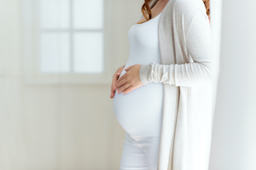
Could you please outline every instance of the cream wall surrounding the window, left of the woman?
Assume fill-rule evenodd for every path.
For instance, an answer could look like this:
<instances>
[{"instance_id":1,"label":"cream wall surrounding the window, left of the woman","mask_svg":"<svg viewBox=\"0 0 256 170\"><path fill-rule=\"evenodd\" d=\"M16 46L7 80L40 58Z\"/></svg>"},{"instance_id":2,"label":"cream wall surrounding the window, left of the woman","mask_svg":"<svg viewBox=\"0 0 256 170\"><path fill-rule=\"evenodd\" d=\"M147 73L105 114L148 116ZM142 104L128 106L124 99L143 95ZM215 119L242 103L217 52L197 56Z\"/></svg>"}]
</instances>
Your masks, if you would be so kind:
<instances>
[{"instance_id":1,"label":"cream wall surrounding the window, left of the woman","mask_svg":"<svg viewBox=\"0 0 256 170\"><path fill-rule=\"evenodd\" d=\"M113 115L111 84L27 85L21 0L0 4L0 169L118 169L125 131ZM128 58L127 32L141 5L113 0L113 72Z\"/></svg>"}]
</instances>

